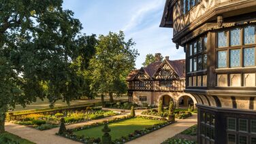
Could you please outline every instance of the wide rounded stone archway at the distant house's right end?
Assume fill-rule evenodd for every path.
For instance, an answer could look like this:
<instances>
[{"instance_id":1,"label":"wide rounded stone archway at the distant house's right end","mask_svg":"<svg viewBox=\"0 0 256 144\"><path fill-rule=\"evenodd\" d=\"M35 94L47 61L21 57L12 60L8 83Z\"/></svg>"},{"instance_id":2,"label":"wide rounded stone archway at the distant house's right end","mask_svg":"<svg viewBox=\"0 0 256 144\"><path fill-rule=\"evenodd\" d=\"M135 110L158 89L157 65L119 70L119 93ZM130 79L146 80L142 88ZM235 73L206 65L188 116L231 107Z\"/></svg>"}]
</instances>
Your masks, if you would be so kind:
<instances>
[{"instance_id":1,"label":"wide rounded stone archway at the distant house's right end","mask_svg":"<svg viewBox=\"0 0 256 144\"><path fill-rule=\"evenodd\" d=\"M182 94L178 96L177 105L179 108L188 108L191 105L193 105L193 107L195 108L196 103L197 100L191 94Z\"/></svg>"}]
</instances>

